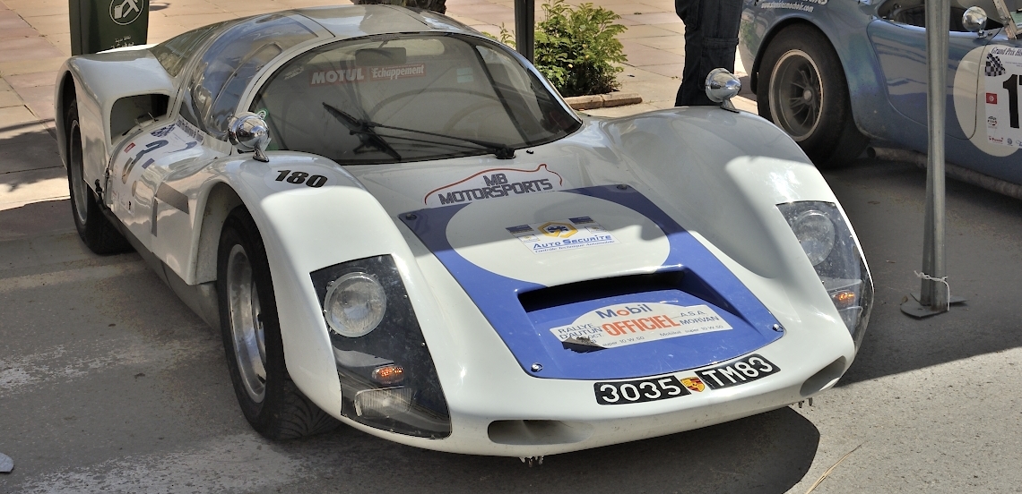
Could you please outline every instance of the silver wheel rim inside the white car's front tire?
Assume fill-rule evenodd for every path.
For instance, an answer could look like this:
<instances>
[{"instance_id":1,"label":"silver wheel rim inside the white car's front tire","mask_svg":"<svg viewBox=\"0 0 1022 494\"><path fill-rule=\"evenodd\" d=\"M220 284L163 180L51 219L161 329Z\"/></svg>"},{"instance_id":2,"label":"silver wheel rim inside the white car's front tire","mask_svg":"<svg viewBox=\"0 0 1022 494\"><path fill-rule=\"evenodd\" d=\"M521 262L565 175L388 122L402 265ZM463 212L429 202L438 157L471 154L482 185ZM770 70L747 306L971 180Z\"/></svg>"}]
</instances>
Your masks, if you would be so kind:
<instances>
[{"instance_id":1,"label":"silver wheel rim inside the white car's front tire","mask_svg":"<svg viewBox=\"0 0 1022 494\"><path fill-rule=\"evenodd\" d=\"M227 257L227 296L241 384L248 397L261 403L266 397L266 335L252 266L240 245Z\"/></svg>"}]
</instances>

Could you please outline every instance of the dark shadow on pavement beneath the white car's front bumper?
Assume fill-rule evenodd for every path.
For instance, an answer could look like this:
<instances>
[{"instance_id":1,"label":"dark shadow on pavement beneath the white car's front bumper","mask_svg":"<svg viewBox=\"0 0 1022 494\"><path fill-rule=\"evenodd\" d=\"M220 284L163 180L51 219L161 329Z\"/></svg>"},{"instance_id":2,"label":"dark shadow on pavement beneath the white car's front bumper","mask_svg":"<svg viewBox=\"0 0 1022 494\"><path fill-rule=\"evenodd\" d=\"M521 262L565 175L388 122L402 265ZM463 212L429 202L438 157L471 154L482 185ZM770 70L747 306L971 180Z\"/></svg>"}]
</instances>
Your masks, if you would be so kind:
<instances>
[{"instance_id":1,"label":"dark shadow on pavement beneath the white car's front bumper","mask_svg":"<svg viewBox=\"0 0 1022 494\"><path fill-rule=\"evenodd\" d=\"M326 452L318 479L301 489L343 485L357 492L785 492L812 463L817 428L791 408L626 444L548 456L528 467L516 458L470 456L403 446L341 427L286 443L289 455ZM310 444L312 443L312 444ZM332 492L332 491L331 491Z\"/></svg>"}]
</instances>

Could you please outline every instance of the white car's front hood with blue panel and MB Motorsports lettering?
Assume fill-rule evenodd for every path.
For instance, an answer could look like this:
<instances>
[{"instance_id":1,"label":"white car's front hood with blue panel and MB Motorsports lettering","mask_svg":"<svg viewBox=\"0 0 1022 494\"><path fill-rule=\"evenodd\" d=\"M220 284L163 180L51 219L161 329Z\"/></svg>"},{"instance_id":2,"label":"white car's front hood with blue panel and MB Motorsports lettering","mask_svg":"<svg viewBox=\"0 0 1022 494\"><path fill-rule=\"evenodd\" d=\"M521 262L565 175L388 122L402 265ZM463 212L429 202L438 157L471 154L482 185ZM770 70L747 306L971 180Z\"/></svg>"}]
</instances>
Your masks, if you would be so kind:
<instances>
[{"instance_id":1,"label":"white car's front hood with blue panel and MB Motorsports lettering","mask_svg":"<svg viewBox=\"0 0 1022 494\"><path fill-rule=\"evenodd\" d=\"M653 376L783 336L737 277L629 185L635 177L594 180L577 163L350 169L533 376ZM601 166L614 167L586 169Z\"/></svg>"}]
</instances>

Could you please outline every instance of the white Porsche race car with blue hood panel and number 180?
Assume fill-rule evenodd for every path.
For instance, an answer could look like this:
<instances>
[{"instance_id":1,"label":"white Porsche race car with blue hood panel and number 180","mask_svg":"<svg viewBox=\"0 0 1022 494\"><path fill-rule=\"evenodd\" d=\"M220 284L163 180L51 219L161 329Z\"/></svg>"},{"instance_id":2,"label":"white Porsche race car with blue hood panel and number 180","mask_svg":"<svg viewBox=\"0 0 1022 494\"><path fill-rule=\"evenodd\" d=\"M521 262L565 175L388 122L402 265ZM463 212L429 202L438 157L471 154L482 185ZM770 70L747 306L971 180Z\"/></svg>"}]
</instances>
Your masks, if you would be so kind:
<instances>
[{"instance_id":1,"label":"white Porsche race car with blue hood panel and number 180","mask_svg":"<svg viewBox=\"0 0 1022 494\"><path fill-rule=\"evenodd\" d=\"M76 56L55 102L82 239L130 243L222 330L270 438L340 421L529 458L649 438L811 397L866 331L858 242L784 132L726 99L579 117L429 11Z\"/></svg>"}]
</instances>

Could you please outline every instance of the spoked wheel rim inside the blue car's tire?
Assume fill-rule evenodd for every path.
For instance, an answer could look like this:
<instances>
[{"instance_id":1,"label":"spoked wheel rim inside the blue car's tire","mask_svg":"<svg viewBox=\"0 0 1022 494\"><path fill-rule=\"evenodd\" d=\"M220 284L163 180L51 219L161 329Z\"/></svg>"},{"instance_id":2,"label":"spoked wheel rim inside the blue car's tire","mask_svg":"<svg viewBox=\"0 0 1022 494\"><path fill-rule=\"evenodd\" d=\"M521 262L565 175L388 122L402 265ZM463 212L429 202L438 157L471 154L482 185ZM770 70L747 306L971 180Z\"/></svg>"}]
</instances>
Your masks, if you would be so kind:
<instances>
[{"instance_id":1,"label":"spoked wheel rim inside the blue car's tire","mask_svg":"<svg viewBox=\"0 0 1022 494\"><path fill-rule=\"evenodd\" d=\"M816 62L804 51L791 50L774 66L770 85L771 112L778 126L795 142L811 136L820 125L825 97Z\"/></svg>"}]
</instances>

